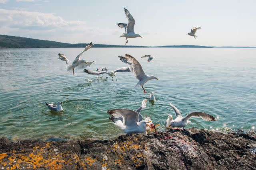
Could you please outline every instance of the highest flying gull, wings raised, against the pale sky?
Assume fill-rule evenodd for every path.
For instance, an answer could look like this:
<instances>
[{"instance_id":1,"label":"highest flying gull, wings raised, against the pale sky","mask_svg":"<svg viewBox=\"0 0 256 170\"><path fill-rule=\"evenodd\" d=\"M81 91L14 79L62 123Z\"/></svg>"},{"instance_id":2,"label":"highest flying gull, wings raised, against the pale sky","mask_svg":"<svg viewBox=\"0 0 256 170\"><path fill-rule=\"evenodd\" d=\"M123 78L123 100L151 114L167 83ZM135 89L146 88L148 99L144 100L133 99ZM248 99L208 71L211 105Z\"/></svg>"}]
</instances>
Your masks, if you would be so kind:
<instances>
[{"instance_id":1,"label":"highest flying gull, wings raised, against the pale sky","mask_svg":"<svg viewBox=\"0 0 256 170\"><path fill-rule=\"evenodd\" d=\"M118 23L117 25L120 28L124 28L125 29L125 33L123 33L122 35L120 35L120 37L126 37L126 43L125 45L128 43L128 38L136 38L136 37L141 37L139 34L134 33L134 24L135 24L135 20L132 17L132 15L130 14L130 12L124 8L124 12L126 15L126 18L128 19L128 24L126 23Z\"/></svg>"}]
</instances>

